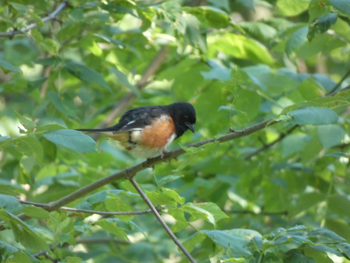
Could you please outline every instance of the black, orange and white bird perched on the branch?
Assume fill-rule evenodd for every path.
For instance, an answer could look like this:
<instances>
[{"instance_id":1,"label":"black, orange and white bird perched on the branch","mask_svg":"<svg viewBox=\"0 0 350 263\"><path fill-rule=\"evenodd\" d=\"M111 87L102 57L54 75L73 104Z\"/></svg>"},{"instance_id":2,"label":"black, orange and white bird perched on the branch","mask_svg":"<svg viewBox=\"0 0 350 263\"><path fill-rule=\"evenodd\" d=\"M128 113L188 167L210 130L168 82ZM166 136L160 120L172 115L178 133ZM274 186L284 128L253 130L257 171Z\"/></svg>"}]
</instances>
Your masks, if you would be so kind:
<instances>
[{"instance_id":1,"label":"black, orange and white bird perched on the branch","mask_svg":"<svg viewBox=\"0 0 350 263\"><path fill-rule=\"evenodd\" d=\"M126 111L119 122L104 129L76 129L100 133L119 141L131 155L149 159L158 154L163 160L166 148L185 131L195 132L196 111L192 104L142 106ZM164 161L164 160L163 160Z\"/></svg>"}]
</instances>

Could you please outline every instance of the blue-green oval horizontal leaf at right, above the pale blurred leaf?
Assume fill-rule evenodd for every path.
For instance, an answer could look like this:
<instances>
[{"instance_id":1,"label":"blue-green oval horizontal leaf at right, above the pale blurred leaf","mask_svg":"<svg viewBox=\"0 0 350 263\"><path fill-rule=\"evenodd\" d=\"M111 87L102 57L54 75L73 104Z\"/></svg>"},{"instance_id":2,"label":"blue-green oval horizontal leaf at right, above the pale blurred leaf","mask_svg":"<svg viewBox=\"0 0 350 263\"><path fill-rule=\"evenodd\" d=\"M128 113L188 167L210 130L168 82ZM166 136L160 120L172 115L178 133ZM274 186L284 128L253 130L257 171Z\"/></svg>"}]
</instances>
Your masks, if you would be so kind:
<instances>
[{"instance_id":1,"label":"blue-green oval horizontal leaf at right, above the pale blurred leaf","mask_svg":"<svg viewBox=\"0 0 350 263\"><path fill-rule=\"evenodd\" d=\"M289 123L299 125L325 125L338 122L338 115L328 108L304 107L286 114Z\"/></svg>"}]
</instances>

